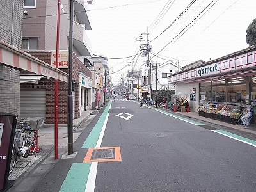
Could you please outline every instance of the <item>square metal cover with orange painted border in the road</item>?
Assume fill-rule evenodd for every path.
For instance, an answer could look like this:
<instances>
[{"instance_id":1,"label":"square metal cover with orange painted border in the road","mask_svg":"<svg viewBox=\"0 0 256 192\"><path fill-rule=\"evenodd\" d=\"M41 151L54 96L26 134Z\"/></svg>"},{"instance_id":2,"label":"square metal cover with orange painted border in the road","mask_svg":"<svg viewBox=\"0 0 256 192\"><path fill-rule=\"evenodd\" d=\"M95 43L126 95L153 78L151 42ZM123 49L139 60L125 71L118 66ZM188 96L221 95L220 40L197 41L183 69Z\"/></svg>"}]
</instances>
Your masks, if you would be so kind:
<instances>
[{"instance_id":1,"label":"square metal cover with orange painted border in the road","mask_svg":"<svg viewBox=\"0 0 256 192\"><path fill-rule=\"evenodd\" d=\"M122 161L120 147L88 148L83 163Z\"/></svg>"}]
</instances>

